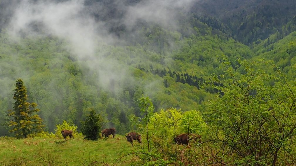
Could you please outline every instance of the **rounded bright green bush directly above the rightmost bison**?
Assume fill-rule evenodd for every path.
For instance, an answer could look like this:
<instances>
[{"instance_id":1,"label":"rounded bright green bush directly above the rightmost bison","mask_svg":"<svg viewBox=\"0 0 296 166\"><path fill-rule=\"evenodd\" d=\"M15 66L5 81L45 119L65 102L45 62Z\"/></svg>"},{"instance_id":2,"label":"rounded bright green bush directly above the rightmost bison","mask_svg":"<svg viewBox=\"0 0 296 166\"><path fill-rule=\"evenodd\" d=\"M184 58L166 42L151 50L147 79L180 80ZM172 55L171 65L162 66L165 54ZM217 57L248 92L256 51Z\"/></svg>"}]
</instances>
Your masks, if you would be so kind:
<instances>
[{"instance_id":1,"label":"rounded bright green bush directly above the rightmost bison","mask_svg":"<svg viewBox=\"0 0 296 166\"><path fill-rule=\"evenodd\" d=\"M182 115L181 124L185 133L203 134L207 130L205 120L197 110L186 111Z\"/></svg>"}]
</instances>

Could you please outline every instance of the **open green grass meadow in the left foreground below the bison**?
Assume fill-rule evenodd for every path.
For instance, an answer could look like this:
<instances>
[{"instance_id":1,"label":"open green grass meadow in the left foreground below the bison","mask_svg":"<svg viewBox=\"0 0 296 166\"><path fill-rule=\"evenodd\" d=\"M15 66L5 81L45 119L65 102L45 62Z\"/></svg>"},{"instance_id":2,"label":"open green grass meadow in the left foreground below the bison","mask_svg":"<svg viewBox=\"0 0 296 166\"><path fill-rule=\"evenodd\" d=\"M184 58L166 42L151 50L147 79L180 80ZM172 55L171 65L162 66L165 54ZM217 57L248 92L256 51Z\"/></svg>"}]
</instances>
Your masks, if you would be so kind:
<instances>
[{"instance_id":1,"label":"open green grass meadow in the left foreground below the bison","mask_svg":"<svg viewBox=\"0 0 296 166\"><path fill-rule=\"evenodd\" d=\"M88 141L82 138L0 138L0 165L128 165L135 156L126 155L134 147L125 136ZM56 142L55 142L56 141Z\"/></svg>"}]
</instances>

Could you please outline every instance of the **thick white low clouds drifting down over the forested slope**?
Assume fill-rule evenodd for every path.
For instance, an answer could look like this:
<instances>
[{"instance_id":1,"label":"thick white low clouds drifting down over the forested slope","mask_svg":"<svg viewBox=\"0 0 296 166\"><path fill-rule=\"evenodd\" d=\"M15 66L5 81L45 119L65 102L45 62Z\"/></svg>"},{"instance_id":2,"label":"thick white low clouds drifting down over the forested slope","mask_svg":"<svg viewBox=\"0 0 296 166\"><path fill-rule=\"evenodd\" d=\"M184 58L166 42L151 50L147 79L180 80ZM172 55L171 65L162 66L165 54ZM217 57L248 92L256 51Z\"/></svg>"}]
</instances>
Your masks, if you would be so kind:
<instances>
[{"instance_id":1,"label":"thick white low clouds drifting down over the forested slope","mask_svg":"<svg viewBox=\"0 0 296 166\"><path fill-rule=\"evenodd\" d=\"M12 4L14 14L10 18L7 30L15 36L53 35L66 40L71 55L78 59L90 59L88 67L98 73L104 73L99 76L104 78L98 80L104 80L101 83L106 84L106 80L108 82L114 77L122 78L126 73L124 69L113 69L113 66L117 65L116 60L104 61L103 55L96 51L98 43L112 45L124 40L110 32L110 22L125 25L128 29L136 27L139 19L163 27L177 27L175 17L181 11L187 12L194 0L127 2L129 1L23 0ZM106 3L112 5L108 6ZM108 11L111 9L112 11Z\"/></svg>"}]
</instances>

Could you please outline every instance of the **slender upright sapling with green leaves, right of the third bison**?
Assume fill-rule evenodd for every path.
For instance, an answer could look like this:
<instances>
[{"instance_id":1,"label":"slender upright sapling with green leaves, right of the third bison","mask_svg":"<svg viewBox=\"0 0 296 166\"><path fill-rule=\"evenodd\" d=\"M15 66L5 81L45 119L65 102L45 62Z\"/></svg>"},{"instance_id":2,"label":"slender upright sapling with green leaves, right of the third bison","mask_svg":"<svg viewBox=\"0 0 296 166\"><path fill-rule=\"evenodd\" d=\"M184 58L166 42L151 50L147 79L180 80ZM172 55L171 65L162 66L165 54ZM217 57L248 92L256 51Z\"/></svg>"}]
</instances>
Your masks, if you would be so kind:
<instances>
[{"instance_id":1,"label":"slender upright sapling with green leaves, right of the third bison","mask_svg":"<svg viewBox=\"0 0 296 166\"><path fill-rule=\"evenodd\" d=\"M152 138L152 136L149 136L149 130L148 130L148 124L150 122L150 117L153 114L154 106L152 104L151 99L147 96L144 97L142 95L141 98L139 98L139 106L140 106L140 111L144 113L144 118L142 118L142 122L144 123L144 126L146 128L146 139L147 139L147 145L148 145L148 152L150 152L150 145L149 142Z\"/></svg>"}]
</instances>

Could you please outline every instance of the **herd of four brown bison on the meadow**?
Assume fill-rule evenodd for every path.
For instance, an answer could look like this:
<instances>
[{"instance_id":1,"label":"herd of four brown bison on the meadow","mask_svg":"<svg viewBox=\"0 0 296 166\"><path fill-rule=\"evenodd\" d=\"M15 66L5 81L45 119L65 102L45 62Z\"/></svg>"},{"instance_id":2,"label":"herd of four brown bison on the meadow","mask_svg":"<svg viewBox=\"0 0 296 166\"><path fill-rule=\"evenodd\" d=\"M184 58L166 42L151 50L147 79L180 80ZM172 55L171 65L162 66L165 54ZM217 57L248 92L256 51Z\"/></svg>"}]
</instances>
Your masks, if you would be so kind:
<instances>
[{"instance_id":1,"label":"herd of four brown bison on the meadow","mask_svg":"<svg viewBox=\"0 0 296 166\"><path fill-rule=\"evenodd\" d=\"M74 139L72 130L62 130L61 132L65 140L66 136L69 136L70 139ZM102 137L108 137L111 134L113 136L112 138L114 138L116 134L115 128L106 128L102 131ZM138 140L138 142L142 145L141 134L135 132L128 133L128 135L126 135L126 140L131 142L131 146L133 146L133 140ZM201 143L201 136L198 134L180 134L174 138L176 144L189 144L189 141L191 140Z\"/></svg>"}]
</instances>

